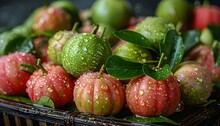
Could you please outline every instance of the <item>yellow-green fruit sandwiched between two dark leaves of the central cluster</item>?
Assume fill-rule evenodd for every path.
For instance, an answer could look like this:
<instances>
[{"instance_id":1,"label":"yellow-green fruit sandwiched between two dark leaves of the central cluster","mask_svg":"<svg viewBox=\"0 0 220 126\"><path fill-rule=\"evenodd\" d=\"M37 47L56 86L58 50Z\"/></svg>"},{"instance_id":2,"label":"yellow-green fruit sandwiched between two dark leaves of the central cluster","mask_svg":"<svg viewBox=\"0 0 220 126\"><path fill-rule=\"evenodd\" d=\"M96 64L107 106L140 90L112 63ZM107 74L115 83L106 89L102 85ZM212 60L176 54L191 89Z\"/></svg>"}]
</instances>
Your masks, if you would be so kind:
<instances>
[{"instance_id":1,"label":"yellow-green fruit sandwiched between two dark leaves of the central cluster","mask_svg":"<svg viewBox=\"0 0 220 126\"><path fill-rule=\"evenodd\" d=\"M139 63L146 63L152 60L152 56L147 49L129 42L119 44L115 48L114 54Z\"/></svg>"}]
</instances>

